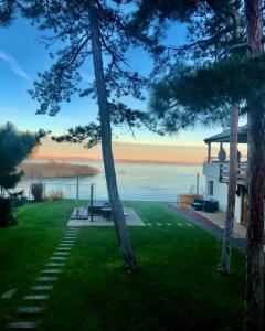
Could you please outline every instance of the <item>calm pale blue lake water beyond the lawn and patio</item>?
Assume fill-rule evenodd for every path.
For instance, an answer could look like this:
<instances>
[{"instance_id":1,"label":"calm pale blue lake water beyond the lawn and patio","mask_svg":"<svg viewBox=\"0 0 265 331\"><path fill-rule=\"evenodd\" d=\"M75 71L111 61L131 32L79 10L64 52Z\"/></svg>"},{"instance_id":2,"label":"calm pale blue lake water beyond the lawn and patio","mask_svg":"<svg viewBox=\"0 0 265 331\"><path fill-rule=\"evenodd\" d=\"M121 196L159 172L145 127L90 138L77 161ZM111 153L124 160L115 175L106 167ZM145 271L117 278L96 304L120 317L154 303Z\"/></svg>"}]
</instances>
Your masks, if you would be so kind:
<instances>
[{"instance_id":1,"label":"calm pale blue lake water beyond the lawn and patio","mask_svg":"<svg viewBox=\"0 0 265 331\"><path fill-rule=\"evenodd\" d=\"M80 197L89 199L91 184L95 184L95 199L107 199L107 190L102 162L72 162L96 167L100 172L93 177L80 178ZM134 201L177 201L181 193L195 193L197 173L200 174L199 192L204 192L202 166L117 163L117 181L121 200ZM32 180L36 181L36 180ZM22 181L18 189L29 194L32 181ZM62 190L66 199L76 196L76 178L42 180L45 192Z\"/></svg>"}]
</instances>

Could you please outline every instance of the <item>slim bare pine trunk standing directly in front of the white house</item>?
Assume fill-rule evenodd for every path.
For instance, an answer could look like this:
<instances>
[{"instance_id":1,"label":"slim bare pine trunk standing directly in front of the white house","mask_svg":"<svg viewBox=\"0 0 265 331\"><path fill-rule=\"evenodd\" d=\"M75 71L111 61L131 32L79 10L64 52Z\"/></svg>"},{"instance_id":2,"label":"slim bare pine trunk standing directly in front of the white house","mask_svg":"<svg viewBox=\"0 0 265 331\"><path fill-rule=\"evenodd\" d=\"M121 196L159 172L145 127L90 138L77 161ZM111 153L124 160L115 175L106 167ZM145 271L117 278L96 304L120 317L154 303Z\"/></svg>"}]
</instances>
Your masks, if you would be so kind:
<instances>
[{"instance_id":1,"label":"slim bare pine trunk standing directly in front of the white house","mask_svg":"<svg viewBox=\"0 0 265 331\"><path fill-rule=\"evenodd\" d=\"M225 225L223 233L222 260L220 270L223 274L231 273L231 247L233 241L235 194L237 179L237 135L239 135L239 106L233 105L230 125L230 175L227 209L225 214Z\"/></svg>"}]
</instances>

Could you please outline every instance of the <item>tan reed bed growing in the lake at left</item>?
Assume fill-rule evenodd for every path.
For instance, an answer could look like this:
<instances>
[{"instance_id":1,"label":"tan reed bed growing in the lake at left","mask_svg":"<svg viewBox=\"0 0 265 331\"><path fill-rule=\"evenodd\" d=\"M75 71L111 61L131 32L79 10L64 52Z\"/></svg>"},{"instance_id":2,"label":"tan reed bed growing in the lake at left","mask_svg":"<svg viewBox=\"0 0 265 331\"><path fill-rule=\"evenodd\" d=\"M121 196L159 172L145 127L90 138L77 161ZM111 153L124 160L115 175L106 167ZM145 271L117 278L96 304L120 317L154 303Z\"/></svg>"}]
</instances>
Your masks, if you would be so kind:
<instances>
[{"instance_id":1,"label":"tan reed bed growing in the lake at left","mask_svg":"<svg viewBox=\"0 0 265 331\"><path fill-rule=\"evenodd\" d=\"M98 173L95 167L82 166L82 164L71 164L71 163L26 163L23 162L19 166L19 170L24 172L23 179L42 179L42 178L70 178L76 177L78 172L80 175L94 175Z\"/></svg>"}]
</instances>

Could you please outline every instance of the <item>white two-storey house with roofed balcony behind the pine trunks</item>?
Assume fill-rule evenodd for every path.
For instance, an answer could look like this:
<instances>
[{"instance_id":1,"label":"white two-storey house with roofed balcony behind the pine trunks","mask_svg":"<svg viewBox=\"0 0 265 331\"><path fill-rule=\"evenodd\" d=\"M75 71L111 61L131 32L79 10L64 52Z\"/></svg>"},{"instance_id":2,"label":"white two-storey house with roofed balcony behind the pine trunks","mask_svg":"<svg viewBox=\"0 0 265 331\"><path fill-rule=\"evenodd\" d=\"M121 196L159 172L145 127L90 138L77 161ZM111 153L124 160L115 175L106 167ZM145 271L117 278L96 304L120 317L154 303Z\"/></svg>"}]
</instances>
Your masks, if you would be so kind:
<instances>
[{"instance_id":1,"label":"white two-storey house with roofed balcony behind the pine trunks","mask_svg":"<svg viewBox=\"0 0 265 331\"><path fill-rule=\"evenodd\" d=\"M225 212L227 206L229 183L229 156L223 150L223 143L230 142L230 130L204 139L208 145L208 157L203 163L205 175L205 199L214 199L219 202L219 210ZM212 156L212 145L219 143L218 157ZM239 143L247 143L247 127L239 128ZM239 154L237 191L235 200L235 218L237 223L246 225L247 220L247 189L246 189L247 158Z\"/></svg>"}]
</instances>

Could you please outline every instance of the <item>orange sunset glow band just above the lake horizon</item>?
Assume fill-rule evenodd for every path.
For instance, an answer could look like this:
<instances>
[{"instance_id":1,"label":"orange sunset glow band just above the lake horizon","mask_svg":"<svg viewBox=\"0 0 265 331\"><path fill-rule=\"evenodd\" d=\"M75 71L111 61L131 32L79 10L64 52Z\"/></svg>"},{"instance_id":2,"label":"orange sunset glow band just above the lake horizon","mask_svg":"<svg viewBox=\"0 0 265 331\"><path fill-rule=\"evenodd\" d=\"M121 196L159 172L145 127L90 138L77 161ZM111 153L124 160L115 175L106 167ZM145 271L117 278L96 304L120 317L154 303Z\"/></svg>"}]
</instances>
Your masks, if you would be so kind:
<instances>
[{"instance_id":1,"label":"orange sunset glow band just above the lake horizon","mask_svg":"<svg viewBox=\"0 0 265 331\"><path fill-rule=\"evenodd\" d=\"M218 153L219 147L213 147ZM172 146L156 143L113 142L116 161L124 162L157 162L201 164L206 157L206 145L201 146ZM83 143L57 143L49 138L43 139L36 149L33 159L54 160L102 160L100 146L92 149L84 148Z\"/></svg>"}]
</instances>

